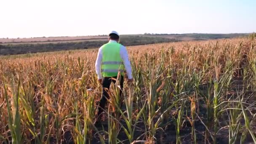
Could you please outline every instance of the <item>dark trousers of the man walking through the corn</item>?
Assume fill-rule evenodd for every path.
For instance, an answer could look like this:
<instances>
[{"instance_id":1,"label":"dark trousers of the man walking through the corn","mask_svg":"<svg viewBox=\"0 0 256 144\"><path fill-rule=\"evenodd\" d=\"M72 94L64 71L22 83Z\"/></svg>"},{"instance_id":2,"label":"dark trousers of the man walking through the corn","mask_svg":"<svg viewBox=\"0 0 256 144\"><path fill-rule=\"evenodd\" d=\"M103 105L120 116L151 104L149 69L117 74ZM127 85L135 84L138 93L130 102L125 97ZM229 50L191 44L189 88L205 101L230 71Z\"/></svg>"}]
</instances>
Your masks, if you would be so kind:
<instances>
[{"instance_id":1,"label":"dark trousers of the man walking through the corn","mask_svg":"<svg viewBox=\"0 0 256 144\"><path fill-rule=\"evenodd\" d=\"M101 94L101 99L99 101L99 107L98 107L98 117L101 115L101 113L103 112L103 109L105 107L105 104L107 102L107 99L109 99L109 94L107 93L107 91L105 90L105 88L109 89L110 84L113 82L114 84L116 83L115 80L111 79L112 77L103 77L102 79L102 94ZM113 77L113 78L117 78L117 76ZM124 78L123 76L120 77L120 96L122 96L122 91L123 91L123 81Z\"/></svg>"}]
</instances>

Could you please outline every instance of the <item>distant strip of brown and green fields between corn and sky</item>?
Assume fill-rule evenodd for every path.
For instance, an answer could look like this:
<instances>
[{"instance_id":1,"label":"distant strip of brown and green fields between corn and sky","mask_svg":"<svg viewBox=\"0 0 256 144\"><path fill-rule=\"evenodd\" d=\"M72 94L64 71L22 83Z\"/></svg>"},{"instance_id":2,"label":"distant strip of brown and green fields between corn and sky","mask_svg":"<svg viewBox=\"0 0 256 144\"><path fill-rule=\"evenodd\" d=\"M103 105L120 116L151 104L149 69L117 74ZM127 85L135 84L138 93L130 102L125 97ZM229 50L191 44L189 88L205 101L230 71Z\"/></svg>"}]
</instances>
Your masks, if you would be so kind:
<instances>
[{"instance_id":1,"label":"distant strip of brown and green fields between corn and sky","mask_svg":"<svg viewBox=\"0 0 256 144\"><path fill-rule=\"evenodd\" d=\"M121 35L120 43L125 46L145 45L178 41L214 40L222 38L246 37L247 35L248 34ZM99 48L104 43L107 43L107 35L0 39L0 55Z\"/></svg>"}]
</instances>

